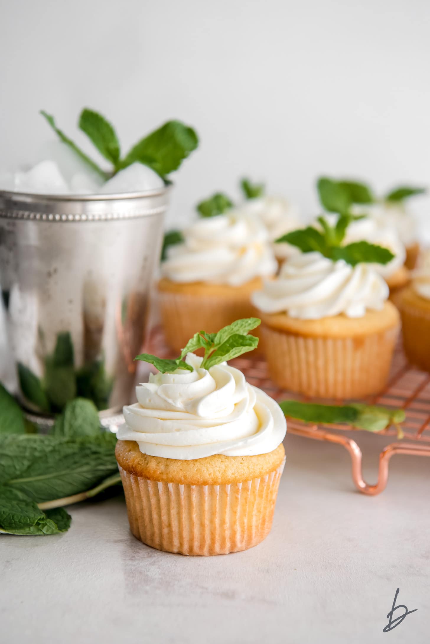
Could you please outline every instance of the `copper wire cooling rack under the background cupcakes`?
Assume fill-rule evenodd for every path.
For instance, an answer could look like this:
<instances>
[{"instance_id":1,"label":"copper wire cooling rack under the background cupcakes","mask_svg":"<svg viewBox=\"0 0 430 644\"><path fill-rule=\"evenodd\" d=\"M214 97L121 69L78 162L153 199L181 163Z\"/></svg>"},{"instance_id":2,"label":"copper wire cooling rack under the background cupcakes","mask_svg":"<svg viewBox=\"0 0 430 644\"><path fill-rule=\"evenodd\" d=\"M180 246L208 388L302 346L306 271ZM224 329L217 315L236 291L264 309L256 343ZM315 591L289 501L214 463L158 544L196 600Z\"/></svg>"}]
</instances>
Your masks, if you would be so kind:
<instances>
[{"instance_id":1,"label":"copper wire cooling rack under the background cupcakes","mask_svg":"<svg viewBox=\"0 0 430 644\"><path fill-rule=\"evenodd\" d=\"M153 328L149 337L151 353L160 357L173 357L167 346L160 327ZM232 360L232 365L240 369L248 383L263 389L277 401L299 399L300 396L272 383L265 360L252 353ZM303 397L301 399L304 399ZM317 402L317 401L315 401ZM329 403L330 401L321 401ZM342 401L332 401L341 404ZM388 384L384 392L366 402L380 404L391 409L403 408L406 420L402 423L404 439L387 445L379 455L379 473L375 485L368 485L362 476L362 453L357 442L343 433L333 430L345 430L342 425L325 425L324 428L314 424L290 420L288 432L314 440L326 440L342 445L351 456L352 480L356 488L367 495L374 496L382 492L387 485L389 461L395 454L430 456L430 374L422 372L407 363L402 346L398 345L391 365ZM348 433L360 430L349 430ZM379 434L396 436L397 430L389 427Z\"/></svg>"}]
</instances>

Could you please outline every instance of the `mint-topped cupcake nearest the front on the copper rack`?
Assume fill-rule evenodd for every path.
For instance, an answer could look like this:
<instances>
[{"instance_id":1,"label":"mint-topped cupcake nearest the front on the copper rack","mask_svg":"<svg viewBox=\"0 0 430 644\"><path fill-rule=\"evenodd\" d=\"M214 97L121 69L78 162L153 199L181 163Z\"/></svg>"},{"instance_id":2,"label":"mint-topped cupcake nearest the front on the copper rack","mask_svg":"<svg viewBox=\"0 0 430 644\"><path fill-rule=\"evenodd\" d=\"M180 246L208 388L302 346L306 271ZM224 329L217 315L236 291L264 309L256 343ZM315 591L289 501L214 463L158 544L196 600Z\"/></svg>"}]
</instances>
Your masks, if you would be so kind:
<instances>
[{"instance_id":1,"label":"mint-topped cupcake nearest the front on the copper rack","mask_svg":"<svg viewBox=\"0 0 430 644\"><path fill-rule=\"evenodd\" d=\"M252 295L270 377L293 392L361 398L386 384L400 327L388 285L373 268L393 254L368 242L342 246L341 227L324 220L282 241L302 253Z\"/></svg>"}]
</instances>

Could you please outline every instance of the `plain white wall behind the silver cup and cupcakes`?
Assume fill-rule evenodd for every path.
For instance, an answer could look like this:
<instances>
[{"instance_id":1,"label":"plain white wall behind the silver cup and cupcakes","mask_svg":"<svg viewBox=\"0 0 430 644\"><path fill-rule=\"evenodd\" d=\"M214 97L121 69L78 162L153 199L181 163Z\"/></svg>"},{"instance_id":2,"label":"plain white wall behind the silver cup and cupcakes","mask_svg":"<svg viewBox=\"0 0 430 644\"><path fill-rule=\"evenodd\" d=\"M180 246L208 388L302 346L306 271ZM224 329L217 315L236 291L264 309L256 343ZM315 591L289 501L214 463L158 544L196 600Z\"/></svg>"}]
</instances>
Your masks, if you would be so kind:
<instances>
[{"instance_id":1,"label":"plain white wall behind the silver cup and cupcakes","mask_svg":"<svg viewBox=\"0 0 430 644\"><path fill-rule=\"evenodd\" d=\"M306 216L321 173L430 183L427 0L4 0L1 13L0 166L53 136L41 108L91 149L75 134L89 106L124 151L169 118L197 129L169 223L243 174ZM429 201L414 202L424 222Z\"/></svg>"}]
</instances>

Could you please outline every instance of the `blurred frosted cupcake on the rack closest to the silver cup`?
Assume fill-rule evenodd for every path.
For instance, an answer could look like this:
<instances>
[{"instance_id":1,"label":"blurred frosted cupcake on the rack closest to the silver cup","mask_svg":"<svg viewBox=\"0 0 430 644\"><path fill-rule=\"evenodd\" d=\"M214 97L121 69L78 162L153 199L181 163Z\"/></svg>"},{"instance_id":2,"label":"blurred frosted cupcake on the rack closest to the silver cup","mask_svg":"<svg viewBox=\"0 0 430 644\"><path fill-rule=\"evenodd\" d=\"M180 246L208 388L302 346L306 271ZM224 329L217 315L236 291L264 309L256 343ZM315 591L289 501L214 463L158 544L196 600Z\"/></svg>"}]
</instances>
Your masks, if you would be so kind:
<instances>
[{"instance_id":1,"label":"blurred frosted cupcake on the rack closest to the silver cup","mask_svg":"<svg viewBox=\"0 0 430 644\"><path fill-rule=\"evenodd\" d=\"M250 294L277 270L257 217L216 212L182 231L182 241L167 248L161 264L160 314L167 344L176 352L196 329L216 332L253 316Z\"/></svg>"}]
</instances>

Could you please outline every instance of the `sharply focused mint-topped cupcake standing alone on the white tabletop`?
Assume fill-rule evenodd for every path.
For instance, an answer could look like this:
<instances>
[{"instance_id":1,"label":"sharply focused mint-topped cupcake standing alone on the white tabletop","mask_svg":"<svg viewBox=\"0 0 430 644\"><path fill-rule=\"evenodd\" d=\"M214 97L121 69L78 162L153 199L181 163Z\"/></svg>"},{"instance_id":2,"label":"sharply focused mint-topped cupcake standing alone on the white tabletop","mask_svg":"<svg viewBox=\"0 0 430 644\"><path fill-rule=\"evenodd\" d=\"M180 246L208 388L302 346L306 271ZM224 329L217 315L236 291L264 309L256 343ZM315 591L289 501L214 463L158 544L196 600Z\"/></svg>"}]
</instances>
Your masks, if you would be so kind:
<instances>
[{"instance_id":1,"label":"sharply focused mint-topped cupcake standing alone on the white tabletop","mask_svg":"<svg viewBox=\"0 0 430 644\"><path fill-rule=\"evenodd\" d=\"M223 361L232 349L240 355L257 345L247 328L196 334L185 360L139 356L159 372L136 388L138 402L124 407L116 456L131 532L144 544L227 554L270 532L286 421L272 398ZM204 359L192 353L198 346L206 348Z\"/></svg>"}]
</instances>

